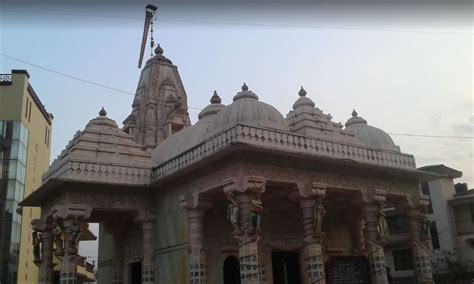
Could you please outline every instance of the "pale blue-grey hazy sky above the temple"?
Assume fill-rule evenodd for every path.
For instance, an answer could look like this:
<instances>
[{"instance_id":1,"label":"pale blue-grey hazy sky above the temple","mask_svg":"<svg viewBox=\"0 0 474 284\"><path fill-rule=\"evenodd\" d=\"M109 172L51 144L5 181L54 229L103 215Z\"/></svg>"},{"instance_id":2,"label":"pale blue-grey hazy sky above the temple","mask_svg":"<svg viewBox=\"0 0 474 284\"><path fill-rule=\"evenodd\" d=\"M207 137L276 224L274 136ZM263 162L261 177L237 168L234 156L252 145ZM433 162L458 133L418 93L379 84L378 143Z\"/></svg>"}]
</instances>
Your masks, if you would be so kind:
<instances>
[{"instance_id":1,"label":"pale blue-grey hazy sky above the temple","mask_svg":"<svg viewBox=\"0 0 474 284\"><path fill-rule=\"evenodd\" d=\"M133 95L9 57L130 93L140 76L147 2L81 3L0 6L0 73L30 73L54 115L52 160L102 106L121 125ZM190 107L205 107L214 90L229 104L246 82L286 115L304 86L335 122L354 108L417 166L445 164L474 187L472 1L219 3L158 3L155 40L178 66ZM199 110L189 113L196 122ZM96 255L95 246L85 255Z\"/></svg>"}]
</instances>

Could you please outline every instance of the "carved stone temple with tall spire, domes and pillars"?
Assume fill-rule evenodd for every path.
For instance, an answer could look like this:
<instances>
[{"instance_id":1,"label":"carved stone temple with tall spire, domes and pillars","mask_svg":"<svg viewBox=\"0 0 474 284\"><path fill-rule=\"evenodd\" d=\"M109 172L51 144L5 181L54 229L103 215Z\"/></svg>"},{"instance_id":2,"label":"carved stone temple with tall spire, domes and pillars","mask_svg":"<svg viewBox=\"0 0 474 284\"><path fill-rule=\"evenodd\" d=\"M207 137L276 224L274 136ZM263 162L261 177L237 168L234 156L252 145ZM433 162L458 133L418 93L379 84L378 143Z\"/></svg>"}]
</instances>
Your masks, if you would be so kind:
<instances>
[{"instance_id":1,"label":"carved stone temple with tall spire, domes and pillars","mask_svg":"<svg viewBox=\"0 0 474 284\"><path fill-rule=\"evenodd\" d=\"M123 127L102 109L23 201L41 207L40 283L53 254L76 283L84 222L100 223L98 283L388 283L388 209L432 283L419 183L436 174L386 132L356 111L333 122L303 88L285 117L245 83L192 125L177 67L155 53Z\"/></svg>"}]
</instances>

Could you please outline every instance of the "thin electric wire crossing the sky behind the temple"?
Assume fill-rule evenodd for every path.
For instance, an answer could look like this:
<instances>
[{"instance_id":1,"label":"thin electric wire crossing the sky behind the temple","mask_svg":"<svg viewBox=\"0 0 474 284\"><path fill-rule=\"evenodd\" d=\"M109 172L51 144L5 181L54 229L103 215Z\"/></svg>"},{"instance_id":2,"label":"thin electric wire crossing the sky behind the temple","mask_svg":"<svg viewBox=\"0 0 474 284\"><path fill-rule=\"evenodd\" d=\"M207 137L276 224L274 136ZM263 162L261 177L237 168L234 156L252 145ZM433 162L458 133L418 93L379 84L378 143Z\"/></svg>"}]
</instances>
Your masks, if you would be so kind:
<instances>
[{"instance_id":1,"label":"thin electric wire crossing the sky behind the temple","mask_svg":"<svg viewBox=\"0 0 474 284\"><path fill-rule=\"evenodd\" d=\"M97 87L105 88L105 89L108 89L108 90L120 92L120 93L123 93L123 94L135 96L134 93L129 92L129 91L124 91L124 90L121 90L121 89L118 89L118 88L115 88L115 87L107 86L107 85L102 84L102 83L97 83L97 82L93 82L93 81L90 81L90 80L82 79L82 78L79 78L77 76L69 75L69 74L66 74L66 73L63 73L63 72L60 72L60 71L56 71L56 70L53 70L53 69L50 69L50 68L47 68L47 67L43 67L43 66L40 66L38 64L31 63L31 62L28 62L28 61L25 61L25 60L22 60L22 59L19 59L19 58L10 56L10 55L0 53L0 56L3 56L3 57L6 57L6 58L9 58L11 60L15 60L15 61L27 64L27 65L36 67L38 69L41 69L41 70L44 70L44 71L47 71L47 72L51 72L51 73L54 73L54 74L57 74L57 75L67 77L69 79L77 80L77 81L82 82L82 83L86 83L86 84L94 85L94 86L97 86ZM189 106L189 105L188 105L188 108L194 109L194 110L199 110L199 111L202 110L202 108L193 107L193 106ZM394 135L394 136L421 137L421 138L452 138L452 139L473 139L474 138L474 136L428 135L428 134L410 134L410 133L388 133L388 134Z\"/></svg>"}]
</instances>

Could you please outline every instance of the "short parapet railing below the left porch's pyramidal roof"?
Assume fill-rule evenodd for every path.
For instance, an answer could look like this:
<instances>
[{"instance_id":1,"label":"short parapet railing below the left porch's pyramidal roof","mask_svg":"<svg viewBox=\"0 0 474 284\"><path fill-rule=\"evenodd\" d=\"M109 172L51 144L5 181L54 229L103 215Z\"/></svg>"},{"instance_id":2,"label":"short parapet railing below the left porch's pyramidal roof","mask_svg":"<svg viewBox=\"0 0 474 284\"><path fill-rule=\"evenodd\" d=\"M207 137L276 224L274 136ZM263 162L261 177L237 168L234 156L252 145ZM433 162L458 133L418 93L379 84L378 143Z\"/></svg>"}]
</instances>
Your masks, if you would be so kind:
<instances>
[{"instance_id":1,"label":"short parapet railing below the left porch's pyramidal roof","mask_svg":"<svg viewBox=\"0 0 474 284\"><path fill-rule=\"evenodd\" d=\"M52 166L43 175L43 182L52 178L93 180L98 182L120 184L148 184L151 181L152 169L137 166L98 163L67 159Z\"/></svg>"}]
</instances>

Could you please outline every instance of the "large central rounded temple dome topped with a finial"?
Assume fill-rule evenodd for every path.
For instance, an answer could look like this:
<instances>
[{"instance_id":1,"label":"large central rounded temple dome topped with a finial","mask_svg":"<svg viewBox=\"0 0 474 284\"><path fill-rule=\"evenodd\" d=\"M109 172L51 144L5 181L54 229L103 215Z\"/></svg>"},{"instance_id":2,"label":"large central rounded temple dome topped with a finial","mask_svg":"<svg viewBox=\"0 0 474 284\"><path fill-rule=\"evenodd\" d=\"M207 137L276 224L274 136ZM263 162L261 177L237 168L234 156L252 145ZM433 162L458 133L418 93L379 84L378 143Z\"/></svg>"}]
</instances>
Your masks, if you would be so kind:
<instances>
[{"instance_id":1,"label":"large central rounded temple dome topped with a finial","mask_svg":"<svg viewBox=\"0 0 474 284\"><path fill-rule=\"evenodd\" d=\"M233 103L214 117L211 128L218 131L238 123L289 131L283 115L273 106L259 101L258 96L245 83L242 91L234 96Z\"/></svg>"}]
</instances>

